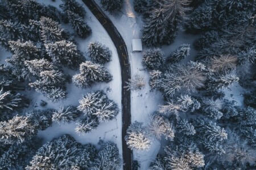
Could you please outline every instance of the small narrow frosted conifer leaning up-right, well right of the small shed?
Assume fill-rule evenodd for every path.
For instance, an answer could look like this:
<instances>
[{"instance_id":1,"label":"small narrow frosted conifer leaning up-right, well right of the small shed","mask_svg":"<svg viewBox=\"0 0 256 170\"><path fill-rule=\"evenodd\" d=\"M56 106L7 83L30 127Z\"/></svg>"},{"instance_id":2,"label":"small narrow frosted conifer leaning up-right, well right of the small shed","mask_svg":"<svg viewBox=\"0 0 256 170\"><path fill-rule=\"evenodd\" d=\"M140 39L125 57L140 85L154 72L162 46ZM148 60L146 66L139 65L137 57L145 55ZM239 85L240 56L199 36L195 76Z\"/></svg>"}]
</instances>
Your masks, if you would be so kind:
<instances>
[{"instance_id":1,"label":"small narrow frosted conifer leaning up-right, well right of the small shed","mask_svg":"<svg viewBox=\"0 0 256 170\"><path fill-rule=\"evenodd\" d=\"M190 52L190 45L189 44L182 44L177 48L174 52L170 54L167 58L167 62L176 63L181 61L189 55Z\"/></svg>"}]
</instances>

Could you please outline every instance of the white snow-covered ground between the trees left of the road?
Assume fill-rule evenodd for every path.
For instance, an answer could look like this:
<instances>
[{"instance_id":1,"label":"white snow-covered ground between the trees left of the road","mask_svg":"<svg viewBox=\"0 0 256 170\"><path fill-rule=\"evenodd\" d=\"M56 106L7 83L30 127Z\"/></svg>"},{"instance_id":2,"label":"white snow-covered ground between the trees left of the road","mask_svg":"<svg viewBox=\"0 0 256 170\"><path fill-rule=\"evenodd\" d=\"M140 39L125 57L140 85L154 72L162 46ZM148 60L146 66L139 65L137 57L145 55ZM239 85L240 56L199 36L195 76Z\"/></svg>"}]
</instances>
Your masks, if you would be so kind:
<instances>
[{"instance_id":1,"label":"white snow-covered ground between the trees left of the road","mask_svg":"<svg viewBox=\"0 0 256 170\"><path fill-rule=\"evenodd\" d=\"M44 3L46 5L52 5L57 8L59 8L59 5L61 4L60 0L56 0L55 2L52 1L44 1L40 0L38 1L40 3ZM47 108L59 108L60 106L65 105L79 105L79 99L82 97L82 95L86 94L87 92L93 91L93 90L104 90L106 94L108 95L109 99L114 100L115 103L118 104L120 110L121 110L121 71L119 66L119 60L117 56L117 50L115 49L115 46L108 36L108 33L106 33L105 29L102 27L102 25L98 22L98 20L94 17L94 15L89 11L89 9L82 3L81 1L78 1L85 7L86 10L86 16L85 21L88 23L90 27L92 27L92 35L88 37L87 39L79 39L77 38L76 41L79 44L79 48L82 52L84 52L84 56L86 56L86 49L87 45L90 41L99 41L102 44L105 44L112 50L113 56L112 61L109 63L106 63L106 68L109 70L110 74L113 75L113 80L109 83L97 83L90 89L81 89L76 87L74 84L67 84L67 92L68 97L66 100L60 101L58 103L51 103L48 102L46 97L43 95L35 92L34 90L31 91L30 95L33 96L34 100L32 101L32 106L38 106L35 109L42 109L39 105L40 100L45 100L48 102ZM69 26L64 25L64 28L68 28ZM89 60L88 57L86 59ZM65 70L67 72L67 70ZM77 71L78 73L79 71ZM68 70L68 73L70 75L75 74L75 71ZM109 89L107 91L107 89ZM97 129L92 130L90 133L86 133L85 135L79 135L75 132L76 122L71 122L71 124L57 124L53 123L53 125L44 130L40 131L38 136L42 137L44 139L44 142L51 141L52 138L59 137L62 134L71 134L78 142L85 144L85 143L93 143L94 145L97 145L97 142L99 139L104 139L105 141L113 141L117 143L119 152L122 155L122 114L119 112L117 115L117 118L112 121L101 123Z\"/></svg>"}]
</instances>

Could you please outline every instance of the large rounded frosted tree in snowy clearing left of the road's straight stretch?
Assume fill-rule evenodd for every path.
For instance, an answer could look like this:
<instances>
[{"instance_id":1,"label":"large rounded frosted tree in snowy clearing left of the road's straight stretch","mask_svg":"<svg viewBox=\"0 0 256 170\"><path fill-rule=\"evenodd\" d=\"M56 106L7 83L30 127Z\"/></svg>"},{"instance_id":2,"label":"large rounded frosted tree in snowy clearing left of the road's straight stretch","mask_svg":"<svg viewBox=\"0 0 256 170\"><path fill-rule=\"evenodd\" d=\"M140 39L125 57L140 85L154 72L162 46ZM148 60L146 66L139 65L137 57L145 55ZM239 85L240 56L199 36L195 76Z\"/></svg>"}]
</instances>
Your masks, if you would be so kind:
<instances>
[{"instance_id":1,"label":"large rounded frosted tree in snowy clearing left of the road's straight stretch","mask_svg":"<svg viewBox=\"0 0 256 170\"><path fill-rule=\"evenodd\" d=\"M79 100L79 103L77 107L79 111L84 112L86 116L96 116L100 122L113 120L119 112L117 104L109 100L102 91L86 94Z\"/></svg>"}]
</instances>

